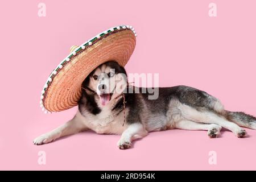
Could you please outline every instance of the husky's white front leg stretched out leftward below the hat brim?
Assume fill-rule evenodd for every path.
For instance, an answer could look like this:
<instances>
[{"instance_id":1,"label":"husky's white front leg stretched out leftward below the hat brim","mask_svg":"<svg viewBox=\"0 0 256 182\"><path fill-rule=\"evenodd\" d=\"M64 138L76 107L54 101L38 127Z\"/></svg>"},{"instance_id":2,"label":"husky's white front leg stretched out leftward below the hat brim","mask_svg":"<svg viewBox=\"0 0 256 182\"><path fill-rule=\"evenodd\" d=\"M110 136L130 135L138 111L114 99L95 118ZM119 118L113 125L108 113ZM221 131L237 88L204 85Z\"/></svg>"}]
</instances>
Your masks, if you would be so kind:
<instances>
[{"instance_id":1,"label":"husky's white front leg stretched out leftward below the hat brim","mask_svg":"<svg viewBox=\"0 0 256 182\"><path fill-rule=\"evenodd\" d=\"M81 130L85 129L85 125L83 125L82 122L80 122L80 119L75 116L73 119L71 119L64 125L57 127L55 130L52 130L46 134L40 135L39 137L35 138L33 143L37 145L49 143L53 140L56 140L57 138L76 134L79 133Z\"/></svg>"}]
</instances>

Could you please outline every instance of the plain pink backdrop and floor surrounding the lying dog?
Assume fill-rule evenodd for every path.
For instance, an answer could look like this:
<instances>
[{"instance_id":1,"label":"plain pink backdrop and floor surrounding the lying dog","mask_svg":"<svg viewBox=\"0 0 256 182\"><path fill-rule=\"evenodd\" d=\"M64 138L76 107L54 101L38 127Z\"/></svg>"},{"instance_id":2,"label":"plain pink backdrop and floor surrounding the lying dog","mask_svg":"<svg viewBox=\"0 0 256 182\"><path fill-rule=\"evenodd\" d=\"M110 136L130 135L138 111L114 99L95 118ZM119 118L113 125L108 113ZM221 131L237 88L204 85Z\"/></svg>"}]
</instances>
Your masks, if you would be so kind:
<instances>
[{"instance_id":1,"label":"plain pink backdrop and floor surrounding the lying dog","mask_svg":"<svg viewBox=\"0 0 256 182\"><path fill-rule=\"evenodd\" d=\"M159 73L160 86L189 85L220 98L228 110L256 115L255 1L41 1L1 3L0 169L256 169L256 131L151 133L130 150L119 136L80 133L43 146L38 135L61 125L76 107L45 115L43 85L73 44L119 24L137 31L129 73ZM217 17L208 16L210 2ZM46 165L38 152L46 151ZM208 152L217 152L217 165Z\"/></svg>"}]
</instances>

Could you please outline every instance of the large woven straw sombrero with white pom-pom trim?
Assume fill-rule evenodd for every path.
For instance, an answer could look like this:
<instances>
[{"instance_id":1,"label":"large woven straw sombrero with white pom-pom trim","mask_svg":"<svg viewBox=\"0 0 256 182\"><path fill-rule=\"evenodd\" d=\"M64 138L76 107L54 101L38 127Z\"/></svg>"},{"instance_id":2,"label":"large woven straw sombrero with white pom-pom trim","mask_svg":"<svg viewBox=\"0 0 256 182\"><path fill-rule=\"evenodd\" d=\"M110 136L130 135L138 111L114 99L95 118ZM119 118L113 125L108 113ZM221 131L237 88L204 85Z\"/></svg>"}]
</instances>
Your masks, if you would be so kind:
<instances>
[{"instance_id":1,"label":"large woven straw sombrero with white pom-pom trim","mask_svg":"<svg viewBox=\"0 0 256 182\"><path fill-rule=\"evenodd\" d=\"M71 47L71 53L53 69L44 85L40 99L44 113L76 106L81 97L82 81L98 65L115 60L125 66L134 51L136 36L133 27L117 26L81 46Z\"/></svg>"}]
</instances>

